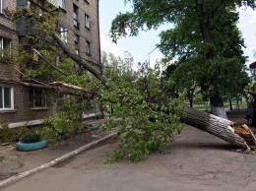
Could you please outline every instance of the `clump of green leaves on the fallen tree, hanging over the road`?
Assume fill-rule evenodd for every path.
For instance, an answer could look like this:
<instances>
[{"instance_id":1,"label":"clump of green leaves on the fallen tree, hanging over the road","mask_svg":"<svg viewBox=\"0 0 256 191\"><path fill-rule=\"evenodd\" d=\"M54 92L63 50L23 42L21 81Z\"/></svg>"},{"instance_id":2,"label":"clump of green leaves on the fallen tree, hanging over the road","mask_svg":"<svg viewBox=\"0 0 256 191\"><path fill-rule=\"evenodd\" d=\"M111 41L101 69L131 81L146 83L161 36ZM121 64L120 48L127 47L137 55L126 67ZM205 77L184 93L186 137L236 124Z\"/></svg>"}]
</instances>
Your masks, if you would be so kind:
<instances>
[{"instance_id":1,"label":"clump of green leaves on the fallen tree, hanging over the road","mask_svg":"<svg viewBox=\"0 0 256 191\"><path fill-rule=\"evenodd\" d=\"M164 94L159 68L141 73L146 75L132 82L116 79L114 83L120 91L109 92L107 86L100 91L104 110L109 115L101 130L118 127L117 135L121 138L108 162L147 159L160 151L161 146L169 147L173 135L182 130L184 97L171 98Z\"/></svg>"}]
</instances>

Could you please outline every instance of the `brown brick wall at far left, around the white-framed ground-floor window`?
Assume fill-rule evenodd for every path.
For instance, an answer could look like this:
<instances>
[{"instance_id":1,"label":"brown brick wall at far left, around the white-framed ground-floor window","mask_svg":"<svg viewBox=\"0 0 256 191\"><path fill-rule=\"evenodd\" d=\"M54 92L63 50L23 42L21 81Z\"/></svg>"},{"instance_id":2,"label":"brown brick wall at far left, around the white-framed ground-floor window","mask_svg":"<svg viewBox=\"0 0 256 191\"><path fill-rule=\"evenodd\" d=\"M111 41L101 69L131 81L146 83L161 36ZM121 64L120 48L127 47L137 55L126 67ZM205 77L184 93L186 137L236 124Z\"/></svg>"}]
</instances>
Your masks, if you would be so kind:
<instances>
[{"instance_id":1,"label":"brown brick wall at far left, around the white-framed ground-floor window","mask_svg":"<svg viewBox=\"0 0 256 191\"><path fill-rule=\"evenodd\" d=\"M6 1L6 7L9 10L16 8L16 0ZM16 25L5 15L0 14L0 36L12 40L12 46L19 44ZM15 66L19 69L19 64ZM13 88L14 90L14 110L0 110L0 120L9 123L42 119L52 115L55 107L42 110L34 110L30 107L30 91L28 87L22 86L20 82L20 74L16 72L13 66L0 63L0 87Z\"/></svg>"}]
</instances>

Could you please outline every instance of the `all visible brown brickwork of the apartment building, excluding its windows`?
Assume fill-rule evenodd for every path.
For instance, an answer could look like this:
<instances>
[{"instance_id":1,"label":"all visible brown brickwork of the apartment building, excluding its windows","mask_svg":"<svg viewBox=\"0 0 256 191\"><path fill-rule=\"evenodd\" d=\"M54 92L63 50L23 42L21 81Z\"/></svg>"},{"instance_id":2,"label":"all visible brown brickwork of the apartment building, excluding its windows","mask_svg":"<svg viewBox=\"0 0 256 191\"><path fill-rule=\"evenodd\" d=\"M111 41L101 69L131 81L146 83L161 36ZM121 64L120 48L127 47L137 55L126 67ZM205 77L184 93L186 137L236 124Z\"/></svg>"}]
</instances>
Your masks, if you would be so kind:
<instances>
[{"instance_id":1,"label":"all visible brown brickwork of the apartment building, excluding its windows","mask_svg":"<svg viewBox=\"0 0 256 191\"><path fill-rule=\"evenodd\" d=\"M16 0L8 0L8 9L16 8ZM88 3L90 2L90 3ZM74 27L73 21L73 3L79 7L78 22L80 29ZM95 63L99 63L99 33L98 33L98 18L97 18L97 0L66 0L66 12L60 23L68 29L68 43L70 47L74 47L74 34L80 36L79 49L81 56ZM91 28L85 27L85 14L90 16ZM0 15L0 36L12 39L12 45L19 43L16 26L12 21ZM91 55L86 54L86 40L91 43ZM19 68L19 66L16 66ZM2 79L9 79L9 82ZM14 81L14 82L11 82ZM56 111L56 107L52 106L47 109L32 109L30 107L30 89L22 86L20 83L20 74L15 72L12 67L7 64L0 63L0 87L10 87L14 89L14 110L1 111L0 120L6 120L9 123L22 122L28 120L42 119L52 115Z\"/></svg>"}]
</instances>

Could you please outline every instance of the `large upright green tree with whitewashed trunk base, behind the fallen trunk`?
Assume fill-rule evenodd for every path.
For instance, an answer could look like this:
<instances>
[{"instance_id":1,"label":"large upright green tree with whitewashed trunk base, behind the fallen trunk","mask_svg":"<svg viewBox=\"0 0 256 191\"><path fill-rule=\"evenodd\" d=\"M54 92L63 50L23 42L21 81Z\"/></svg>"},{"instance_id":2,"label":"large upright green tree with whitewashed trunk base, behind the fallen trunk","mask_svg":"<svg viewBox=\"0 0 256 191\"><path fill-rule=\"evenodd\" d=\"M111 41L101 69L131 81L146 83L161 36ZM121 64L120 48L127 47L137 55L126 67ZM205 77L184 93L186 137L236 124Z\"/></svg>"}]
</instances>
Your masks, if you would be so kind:
<instances>
[{"instance_id":1,"label":"large upright green tree with whitewashed trunk base, behind the fallen trunk","mask_svg":"<svg viewBox=\"0 0 256 191\"><path fill-rule=\"evenodd\" d=\"M245 58L243 41L235 26L238 15L231 12L240 0L127 0L131 13L119 14L112 22L111 37L116 41L140 30L157 29L173 24L173 29L160 33L160 50L168 58L177 57L176 73L181 76L190 68L205 96L209 97L212 112L226 118L222 97L237 91ZM255 1L247 1L255 7ZM129 30L127 30L129 29ZM130 33L128 33L130 32ZM182 65L182 66L181 66ZM185 80L189 81L191 79Z\"/></svg>"}]
</instances>

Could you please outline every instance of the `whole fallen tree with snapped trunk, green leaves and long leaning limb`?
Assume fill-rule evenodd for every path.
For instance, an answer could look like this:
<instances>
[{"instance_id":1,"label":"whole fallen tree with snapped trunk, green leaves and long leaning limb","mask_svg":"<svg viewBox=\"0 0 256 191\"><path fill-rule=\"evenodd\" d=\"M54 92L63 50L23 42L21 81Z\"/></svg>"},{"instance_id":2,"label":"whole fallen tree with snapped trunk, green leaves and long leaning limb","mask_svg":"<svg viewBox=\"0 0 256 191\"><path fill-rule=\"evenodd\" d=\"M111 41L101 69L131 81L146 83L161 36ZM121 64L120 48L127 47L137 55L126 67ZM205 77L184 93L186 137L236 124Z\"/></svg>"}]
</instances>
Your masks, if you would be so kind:
<instances>
[{"instance_id":1,"label":"whole fallen tree with snapped trunk, green leaves and long leaning limb","mask_svg":"<svg viewBox=\"0 0 256 191\"><path fill-rule=\"evenodd\" d=\"M23 17L25 17L24 14ZM40 21L44 20L40 18ZM41 25L40 22L38 25ZM256 139L246 125L238 126L232 121L206 112L192 108L181 108L179 103L183 101L182 97L177 101L169 101L168 97L160 92L159 75L153 74L150 76L150 69L136 82L121 87L119 85L125 82L112 83L102 73L100 64L82 58L81 55L76 54L72 48L64 43L59 34L55 32L55 26L51 26L51 29L47 30L47 32L51 32L52 38L69 58L93 74L102 85L106 85L104 87L107 91L98 95L102 99L105 98L106 102L109 101L115 107L113 110L117 111L117 113L110 119L121 119L109 120L108 125L112 127L121 126L117 134L125 135L125 139L121 147L119 147L122 152L115 153L117 159L127 157L131 160L137 160L138 156L140 159L144 159L150 153L158 151L161 143L168 146L173 140L173 134L178 134L182 130L180 118L183 115L179 115L178 112L183 113L184 111L186 112L186 117L183 119L184 123L211 133L237 148L246 151L254 150ZM136 83L139 83L139 85L136 85ZM72 88L76 87L72 86ZM159 100L162 100L162 102ZM167 113L169 110L171 110L170 114ZM156 114L156 112L158 113ZM153 122L149 120L152 118L154 119ZM133 121L131 128L127 128L131 121ZM133 144L132 146L129 145L131 143ZM127 150L131 152L125 153Z\"/></svg>"}]
</instances>

